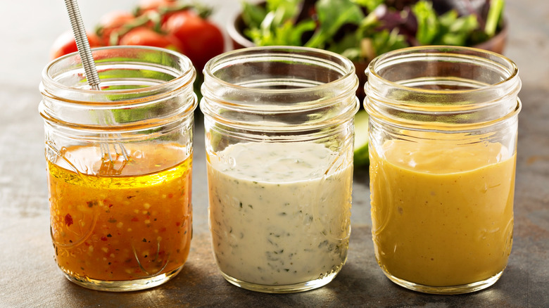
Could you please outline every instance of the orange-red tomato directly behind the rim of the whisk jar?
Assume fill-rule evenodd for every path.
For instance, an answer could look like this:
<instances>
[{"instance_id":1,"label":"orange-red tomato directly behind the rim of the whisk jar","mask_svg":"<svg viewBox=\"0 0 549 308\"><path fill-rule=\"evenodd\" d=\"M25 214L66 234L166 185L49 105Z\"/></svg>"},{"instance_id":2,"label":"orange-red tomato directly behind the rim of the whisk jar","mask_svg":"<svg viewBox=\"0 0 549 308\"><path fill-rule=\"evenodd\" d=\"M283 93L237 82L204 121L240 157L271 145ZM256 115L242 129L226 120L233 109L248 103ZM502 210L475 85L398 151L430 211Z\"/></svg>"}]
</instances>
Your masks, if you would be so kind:
<instances>
[{"instance_id":1,"label":"orange-red tomato directly behind the rim of the whisk jar","mask_svg":"<svg viewBox=\"0 0 549 308\"><path fill-rule=\"evenodd\" d=\"M153 46L184 52L184 46L172 35L160 34L148 27L137 27L120 39L119 45Z\"/></svg>"}]
</instances>

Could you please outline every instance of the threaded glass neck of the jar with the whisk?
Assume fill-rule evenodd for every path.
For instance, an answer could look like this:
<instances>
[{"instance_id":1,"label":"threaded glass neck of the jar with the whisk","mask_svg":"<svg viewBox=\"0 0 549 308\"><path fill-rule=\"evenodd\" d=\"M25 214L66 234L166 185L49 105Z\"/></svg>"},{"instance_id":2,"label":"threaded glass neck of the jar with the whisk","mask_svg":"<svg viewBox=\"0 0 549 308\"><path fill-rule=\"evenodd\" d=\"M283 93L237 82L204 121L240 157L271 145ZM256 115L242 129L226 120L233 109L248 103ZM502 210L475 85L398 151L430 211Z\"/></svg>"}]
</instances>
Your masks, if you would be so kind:
<instances>
[{"instance_id":1,"label":"threaded glass neck of the jar with the whisk","mask_svg":"<svg viewBox=\"0 0 549 308\"><path fill-rule=\"evenodd\" d=\"M196 70L187 56L150 46L92 49L102 90L91 89L78 53L46 65L39 113L82 131L153 129L191 115Z\"/></svg>"}]
</instances>

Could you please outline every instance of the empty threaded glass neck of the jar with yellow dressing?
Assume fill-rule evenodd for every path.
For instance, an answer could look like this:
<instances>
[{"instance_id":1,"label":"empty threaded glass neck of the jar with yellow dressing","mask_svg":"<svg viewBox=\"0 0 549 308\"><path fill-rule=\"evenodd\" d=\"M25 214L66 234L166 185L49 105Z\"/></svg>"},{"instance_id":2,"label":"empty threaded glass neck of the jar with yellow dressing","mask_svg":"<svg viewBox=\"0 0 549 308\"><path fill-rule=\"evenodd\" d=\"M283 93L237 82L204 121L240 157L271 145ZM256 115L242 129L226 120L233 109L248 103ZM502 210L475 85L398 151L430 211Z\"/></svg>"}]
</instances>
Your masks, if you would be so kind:
<instances>
[{"instance_id":1,"label":"empty threaded glass neck of the jar with yellow dressing","mask_svg":"<svg viewBox=\"0 0 549 308\"><path fill-rule=\"evenodd\" d=\"M401 127L486 127L517 115L522 107L517 65L491 51L410 47L375 58L365 72L365 110Z\"/></svg>"}]
</instances>

